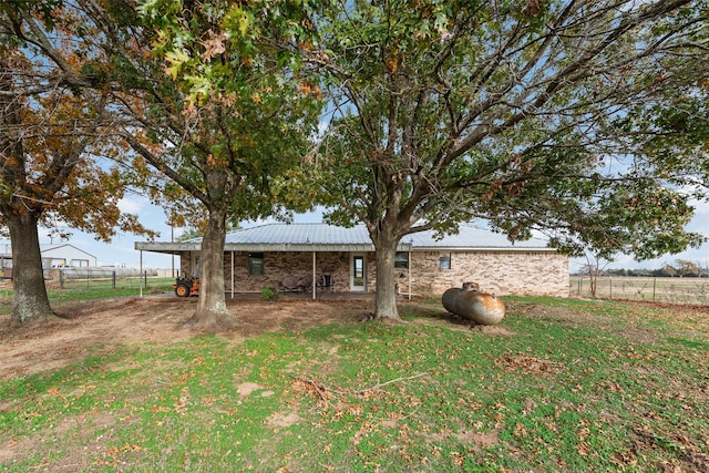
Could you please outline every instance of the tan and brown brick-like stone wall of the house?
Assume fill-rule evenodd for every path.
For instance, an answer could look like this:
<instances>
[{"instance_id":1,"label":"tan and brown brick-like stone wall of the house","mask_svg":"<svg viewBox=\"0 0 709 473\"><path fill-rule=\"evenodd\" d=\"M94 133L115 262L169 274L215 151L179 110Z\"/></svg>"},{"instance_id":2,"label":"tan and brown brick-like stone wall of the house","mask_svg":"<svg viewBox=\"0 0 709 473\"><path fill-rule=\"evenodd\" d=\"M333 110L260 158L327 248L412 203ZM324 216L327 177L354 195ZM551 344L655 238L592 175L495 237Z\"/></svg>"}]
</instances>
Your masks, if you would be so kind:
<instances>
[{"instance_id":1,"label":"tan and brown brick-like stone wall of the house","mask_svg":"<svg viewBox=\"0 0 709 473\"><path fill-rule=\"evenodd\" d=\"M442 251L411 254L411 286L414 295L439 295L463 282L477 282L485 292L501 296L568 296L568 257L555 251L454 251L451 269L440 269ZM335 291L350 290L350 257L346 251L319 253L316 274L335 276ZM367 291L376 288L374 254L366 254ZM191 275L189 254L181 255L181 274ZM409 290L409 270L394 271L399 291ZM234 253L234 290L260 292L271 285L280 289L286 276L311 277L312 253L264 253L264 275L249 276L248 253ZM225 289L232 290L232 254L224 254Z\"/></svg>"}]
</instances>

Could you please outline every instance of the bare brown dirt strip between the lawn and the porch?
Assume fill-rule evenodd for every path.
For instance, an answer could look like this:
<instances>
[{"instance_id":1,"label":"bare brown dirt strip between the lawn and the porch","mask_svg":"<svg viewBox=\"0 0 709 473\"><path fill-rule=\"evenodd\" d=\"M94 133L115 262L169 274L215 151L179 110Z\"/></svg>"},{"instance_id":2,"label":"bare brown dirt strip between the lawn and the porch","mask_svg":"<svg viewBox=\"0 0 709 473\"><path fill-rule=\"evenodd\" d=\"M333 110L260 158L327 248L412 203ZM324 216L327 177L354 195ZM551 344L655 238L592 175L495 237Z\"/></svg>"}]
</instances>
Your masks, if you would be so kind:
<instances>
[{"instance_id":1,"label":"bare brown dirt strip between the lawn and the porch","mask_svg":"<svg viewBox=\"0 0 709 473\"><path fill-rule=\"evenodd\" d=\"M224 336L234 341L278 330L298 331L318 323L356 322L371 311L369 300L229 299L229 310L239 319L236 330ZM183 328L194 313L196 299L116 298L62 307L66 317L29 327L10 328L9 316L0 319L0 382L18 374L53 371L88 354L110 350L119 343L171 343L196 331Z\"/></svg>"}]
</instances>

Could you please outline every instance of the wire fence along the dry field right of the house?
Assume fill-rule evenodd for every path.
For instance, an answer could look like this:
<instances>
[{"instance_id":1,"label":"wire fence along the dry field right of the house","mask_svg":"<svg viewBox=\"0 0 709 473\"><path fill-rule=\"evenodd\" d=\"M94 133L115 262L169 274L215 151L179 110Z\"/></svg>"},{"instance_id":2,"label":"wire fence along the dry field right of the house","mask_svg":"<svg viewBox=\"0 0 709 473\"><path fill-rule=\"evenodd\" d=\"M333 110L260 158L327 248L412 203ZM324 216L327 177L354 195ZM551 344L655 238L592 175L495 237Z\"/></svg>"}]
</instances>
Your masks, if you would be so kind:
<instances>
[{"instance_id":1,"label":"wire fence along the dry field right of the house","mask_svg":"<svg viewBox=\"0 0 709 473\"><path fill-rule=\"evenodd\" d=\"M593 297L588 276L572 276L569 295ZM709 305L709 278L599 276L596 297L685 305Z\"/></svg>"}]
</instances>

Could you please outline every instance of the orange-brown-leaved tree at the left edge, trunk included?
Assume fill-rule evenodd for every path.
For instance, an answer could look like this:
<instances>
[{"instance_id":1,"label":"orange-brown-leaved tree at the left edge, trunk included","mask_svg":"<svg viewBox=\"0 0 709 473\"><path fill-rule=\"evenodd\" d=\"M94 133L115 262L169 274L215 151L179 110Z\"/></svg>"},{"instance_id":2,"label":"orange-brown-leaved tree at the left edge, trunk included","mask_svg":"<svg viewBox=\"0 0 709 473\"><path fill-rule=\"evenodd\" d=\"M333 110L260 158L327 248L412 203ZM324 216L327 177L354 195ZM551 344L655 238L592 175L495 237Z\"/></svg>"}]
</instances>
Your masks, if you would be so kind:
<instances>
[{"instance_id":1,"label":"orange-brown-leaved tree at the left edge, trunk included","mask_svg":"<svg viewBox=\"0 0 709 473\"><path fill-rule=\"evenodd\" d=\"M12 320L53 315L38 225L60 218L107 240L115 227L143 232L122 215L125 183L102 158L112 120L96 29L62 1L0 6L0 222L12 244Z\"/></svg>"}]
</instances>

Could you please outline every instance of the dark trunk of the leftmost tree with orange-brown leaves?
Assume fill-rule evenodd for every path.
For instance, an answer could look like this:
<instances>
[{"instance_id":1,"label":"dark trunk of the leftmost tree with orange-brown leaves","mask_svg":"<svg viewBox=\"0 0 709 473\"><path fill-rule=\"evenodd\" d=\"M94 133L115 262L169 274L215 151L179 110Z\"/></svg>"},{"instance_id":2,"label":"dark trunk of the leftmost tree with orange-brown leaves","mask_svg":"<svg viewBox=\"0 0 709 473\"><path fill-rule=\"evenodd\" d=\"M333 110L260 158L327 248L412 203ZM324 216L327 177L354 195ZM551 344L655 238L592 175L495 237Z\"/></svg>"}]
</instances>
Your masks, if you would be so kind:
<instances>
[{"instance_id":1,"label":"dark trunk of the leftmost tree with orange-brown leaves","mask_svg":"<svg viewBox=\"0 0 709 473\"><path fill-rule=\"evenodd\" d=\"M37 230L37 216L32 212L4 216L12 244L12 323L27 323L55 316L49 305L42 254Z\"/></svg>"}]
</instances>

